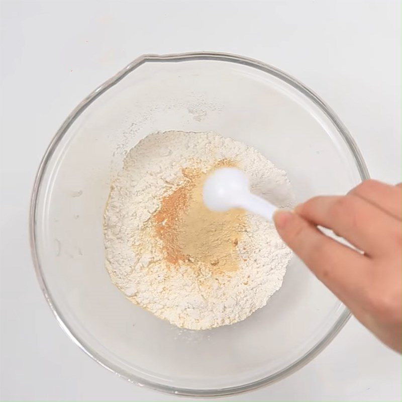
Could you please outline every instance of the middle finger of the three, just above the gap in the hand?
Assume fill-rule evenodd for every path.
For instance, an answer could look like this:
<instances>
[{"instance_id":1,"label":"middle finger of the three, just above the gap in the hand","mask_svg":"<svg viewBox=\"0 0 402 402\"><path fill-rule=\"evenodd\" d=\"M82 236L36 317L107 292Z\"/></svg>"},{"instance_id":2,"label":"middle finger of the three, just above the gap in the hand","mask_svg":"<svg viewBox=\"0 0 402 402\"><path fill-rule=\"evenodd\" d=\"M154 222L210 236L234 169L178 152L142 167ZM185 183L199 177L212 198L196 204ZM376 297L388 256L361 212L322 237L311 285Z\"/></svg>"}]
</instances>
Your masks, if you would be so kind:
<instances>
[{"instance_id":1,"label":"middle finger of the three, just above the gap in the hand","mask_svg":"<svg viewBox=\"0 0 402 402\"><path fill-rule=\"evenodd\" d=\"M400 241L400 222L358 196L314 197L298 205L295 212L371 256L385 254Z\"/></svg>"}]
</instances>

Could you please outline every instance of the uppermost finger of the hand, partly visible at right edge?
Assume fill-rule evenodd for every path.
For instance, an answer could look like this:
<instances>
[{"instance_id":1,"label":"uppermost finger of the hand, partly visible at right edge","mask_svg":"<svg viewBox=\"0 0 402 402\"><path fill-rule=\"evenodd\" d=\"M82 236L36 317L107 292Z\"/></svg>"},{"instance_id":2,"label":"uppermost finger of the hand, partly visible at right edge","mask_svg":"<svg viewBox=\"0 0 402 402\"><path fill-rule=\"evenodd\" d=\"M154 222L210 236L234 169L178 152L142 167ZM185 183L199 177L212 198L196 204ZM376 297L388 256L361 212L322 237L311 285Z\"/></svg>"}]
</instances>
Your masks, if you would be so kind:
<instances>
[{"instance_id":1,"label":"uppermost finger of the hand, partly visible at right edge","mask_svg":"<svg viewBox=\"0 0 402 402\"><path fill-rule=\"evenodd\" d=\"M381 183L377 180L364 180L349 194L359 196L397 219L402 218L402 188Z\"/></svg>"}]
</instances>

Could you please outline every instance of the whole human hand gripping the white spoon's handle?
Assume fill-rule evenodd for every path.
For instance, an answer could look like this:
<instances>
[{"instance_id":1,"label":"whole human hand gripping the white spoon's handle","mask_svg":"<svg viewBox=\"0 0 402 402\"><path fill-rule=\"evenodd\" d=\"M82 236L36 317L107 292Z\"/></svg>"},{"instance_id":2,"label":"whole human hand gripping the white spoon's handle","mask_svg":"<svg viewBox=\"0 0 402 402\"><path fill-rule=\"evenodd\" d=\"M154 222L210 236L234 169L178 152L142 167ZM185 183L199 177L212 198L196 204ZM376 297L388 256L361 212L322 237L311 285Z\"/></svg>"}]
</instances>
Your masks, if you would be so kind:
<instances>
[{"instance_id":1,"label":"whole human hand gripping the white spoon's handle","mask_svg":"<svg viewBox=\"0 0 402 402\"><path fill-rule=\"evenodd\" d=\"M401 352L402 187L366 180L344 196L318 196L274 215L276 229L352 314ZM363 253L324 235L331 229Z\"/></svg>"}]
</instances>

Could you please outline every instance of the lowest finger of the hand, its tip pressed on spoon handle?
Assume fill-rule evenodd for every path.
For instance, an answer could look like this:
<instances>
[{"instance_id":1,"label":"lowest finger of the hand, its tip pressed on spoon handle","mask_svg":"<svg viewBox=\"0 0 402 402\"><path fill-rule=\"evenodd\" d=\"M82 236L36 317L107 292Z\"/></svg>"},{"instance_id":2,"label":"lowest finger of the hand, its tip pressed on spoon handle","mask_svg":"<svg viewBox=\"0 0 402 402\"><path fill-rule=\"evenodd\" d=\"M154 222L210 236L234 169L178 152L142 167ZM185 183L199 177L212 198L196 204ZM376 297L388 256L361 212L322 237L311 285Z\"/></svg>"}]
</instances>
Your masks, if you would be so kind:
<instances>
[{"instance_id":1,"label":"lowest finger of the hand, its tip pressed on spoon handle","mask_svg":"<svg viewBox=\"0 0 402 402\"><path fill-rule=\"evenodd\" d=\"M285 243L344 303L350 303L350 295L361 287L368 258L325 236L295 213L277 211L274 222Z\"/></svg>"}]
</instances>

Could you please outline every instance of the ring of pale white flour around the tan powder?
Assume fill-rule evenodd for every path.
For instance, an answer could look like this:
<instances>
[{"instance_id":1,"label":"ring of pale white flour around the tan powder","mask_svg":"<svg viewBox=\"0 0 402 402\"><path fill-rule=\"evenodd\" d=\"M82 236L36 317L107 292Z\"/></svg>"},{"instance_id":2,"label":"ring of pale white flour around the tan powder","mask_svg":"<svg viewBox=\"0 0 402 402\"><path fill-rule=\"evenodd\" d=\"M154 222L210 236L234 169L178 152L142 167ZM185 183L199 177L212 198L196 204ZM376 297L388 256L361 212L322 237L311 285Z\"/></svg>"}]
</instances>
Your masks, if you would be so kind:
<instances>
[{"instance_id":1,"label":"ring of pale white flour around the tan powder","mask_svg":"<svg viewBox=\"0 0 402 402\"><path fill-rule=\"evenodd\" d=\"M246 214L230 245L238 269L220 271L216 262L189 254L187 260L168 261L155 224L162 200L186 183L183 168L208 172L222 160L247 173L253 192L279 207L293 205L284 171L255 149L213 133L149 135L127 154L111 186L104 234L112 281L133 303L181 328L203 330L244 320L280 288L291 257L272 223ZM189 232L188 241L195 235ZM198 240L202 245L194 247L214 253L208 238Z\"/></svg>"}]
</instances>

